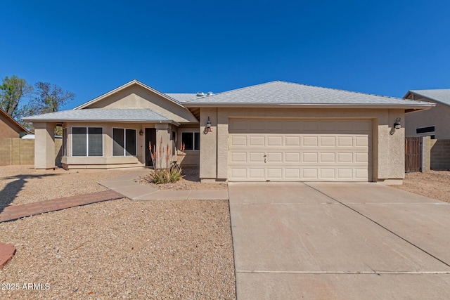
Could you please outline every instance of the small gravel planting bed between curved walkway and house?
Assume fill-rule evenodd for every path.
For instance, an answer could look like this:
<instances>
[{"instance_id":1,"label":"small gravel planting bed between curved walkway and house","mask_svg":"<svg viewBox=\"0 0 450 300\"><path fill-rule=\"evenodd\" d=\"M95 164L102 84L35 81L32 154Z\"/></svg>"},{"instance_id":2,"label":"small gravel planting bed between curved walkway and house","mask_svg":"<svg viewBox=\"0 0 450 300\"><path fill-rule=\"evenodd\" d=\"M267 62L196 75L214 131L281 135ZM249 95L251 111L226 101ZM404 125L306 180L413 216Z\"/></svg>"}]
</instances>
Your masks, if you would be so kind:
<instances>
[{"instance_id":1,"label":"small gravel planting bed between curved walkway and house","mask_svg":"<svg viewBox=\"0 0 450 300\"><path fill-rule=\"evenodd\" d=\"M176 183L152 183L150 175L139 177L136 182L158 188L158 190L226 190L228 188L227 183L201 183L198 168L185 167L182 174L184 178Z\"/></svg>"}]
</instances>

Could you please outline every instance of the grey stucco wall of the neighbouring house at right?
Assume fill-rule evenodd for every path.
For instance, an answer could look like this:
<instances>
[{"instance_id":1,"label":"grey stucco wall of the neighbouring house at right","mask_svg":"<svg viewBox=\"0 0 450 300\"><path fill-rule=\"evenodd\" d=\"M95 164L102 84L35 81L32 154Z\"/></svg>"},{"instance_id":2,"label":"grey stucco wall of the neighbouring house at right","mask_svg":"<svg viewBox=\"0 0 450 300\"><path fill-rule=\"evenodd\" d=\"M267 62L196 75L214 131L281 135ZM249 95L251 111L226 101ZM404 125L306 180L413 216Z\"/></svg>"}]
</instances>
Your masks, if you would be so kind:
<instances>
[{"instance_id":1,"label":"grey stucco wall of the neighbouring house at right","mask_svg":"<svg viewBox=\"0 0 450 300\"><path fill-rule=\"evenodd\" d=\"M412 112L405 115L406 136L430 136L436 139L450 139L450 107L436 103L430 110ZM417 128L435 126L435 133L416 133Z\"/></svg>"}]
</instances>

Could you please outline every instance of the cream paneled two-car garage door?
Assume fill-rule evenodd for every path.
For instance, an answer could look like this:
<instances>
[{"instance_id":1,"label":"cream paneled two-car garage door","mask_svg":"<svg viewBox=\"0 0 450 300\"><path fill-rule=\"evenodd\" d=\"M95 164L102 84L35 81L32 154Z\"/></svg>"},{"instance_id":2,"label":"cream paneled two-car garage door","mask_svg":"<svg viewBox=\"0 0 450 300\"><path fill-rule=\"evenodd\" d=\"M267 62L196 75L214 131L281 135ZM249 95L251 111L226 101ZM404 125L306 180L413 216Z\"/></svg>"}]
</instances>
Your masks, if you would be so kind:
<instances>
[{"instance_id":1,"label":"cream paneled two-car garage door","mask_svg":"<svg viewBox=\"0 0 450 300\"><path fill-rule=\"evenodd\" d=\"M370 120L230 119L230 181L370 181Z\"/></svg>"}]
</instances>

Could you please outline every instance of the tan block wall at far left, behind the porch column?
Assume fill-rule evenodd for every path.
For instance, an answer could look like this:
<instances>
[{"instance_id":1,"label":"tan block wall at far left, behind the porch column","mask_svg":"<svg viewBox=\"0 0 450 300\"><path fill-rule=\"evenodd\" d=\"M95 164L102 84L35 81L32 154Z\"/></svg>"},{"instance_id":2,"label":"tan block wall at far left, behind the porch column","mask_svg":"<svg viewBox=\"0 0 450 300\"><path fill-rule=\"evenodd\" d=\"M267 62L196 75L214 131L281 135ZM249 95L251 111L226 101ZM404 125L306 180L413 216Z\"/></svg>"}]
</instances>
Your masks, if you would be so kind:
<instances>
[{"instance_id":1,"label":"tan block wall at far left, behind the porch column","mask_svg":"<svg viewBox=\"0 0 450 300\"><path fill-rule=\"evenodd\" d=\"M63 140L55 140L55 164L61 162ZM34 140L0 138L0 166L34 164Z\"/></svg>"}]
</instances>

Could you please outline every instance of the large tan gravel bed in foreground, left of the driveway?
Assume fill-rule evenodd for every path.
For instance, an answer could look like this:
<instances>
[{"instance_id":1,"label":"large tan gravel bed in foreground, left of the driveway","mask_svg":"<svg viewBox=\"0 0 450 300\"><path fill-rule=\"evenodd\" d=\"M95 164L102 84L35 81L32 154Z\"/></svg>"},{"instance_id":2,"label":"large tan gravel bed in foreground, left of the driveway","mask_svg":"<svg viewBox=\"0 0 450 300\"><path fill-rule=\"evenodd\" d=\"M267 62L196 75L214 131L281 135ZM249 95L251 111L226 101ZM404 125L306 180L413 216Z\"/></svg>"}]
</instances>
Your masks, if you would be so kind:
<instances>
[{"instance_id":1,"label":"large tan gravel bed in foreground, left of the driveway","mask_svg":"<svg viewBox=\"0 0 450 300\"><path fill-rule=\"evenodd\" d=\"M0 286L20 287L0 299L235 299L229 220L227 201L125 198L0 223Z\"/></svg>"}]
</instances>

